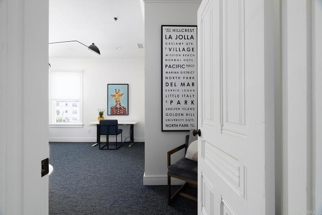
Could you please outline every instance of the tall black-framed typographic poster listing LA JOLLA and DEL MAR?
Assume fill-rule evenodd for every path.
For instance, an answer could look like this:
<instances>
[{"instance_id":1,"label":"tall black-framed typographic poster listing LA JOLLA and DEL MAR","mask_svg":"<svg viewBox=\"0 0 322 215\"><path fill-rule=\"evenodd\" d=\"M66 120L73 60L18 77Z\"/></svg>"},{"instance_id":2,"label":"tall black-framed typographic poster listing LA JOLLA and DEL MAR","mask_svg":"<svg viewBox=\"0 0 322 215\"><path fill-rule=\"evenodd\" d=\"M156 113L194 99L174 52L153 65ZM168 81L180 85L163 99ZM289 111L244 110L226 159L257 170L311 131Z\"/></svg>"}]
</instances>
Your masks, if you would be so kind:
<instances>
[{"instance_id":1,"label":"tall black-framed typographic poster listing LA JOLLA and DEL MAR","mask_svg":"<svg viewBox=\"0 0 322 215\"><path fill-rule=\"evenodd\" d=\"M197 129L197 26L162 25L162 131Z\"/></svg>"}]
</instances>

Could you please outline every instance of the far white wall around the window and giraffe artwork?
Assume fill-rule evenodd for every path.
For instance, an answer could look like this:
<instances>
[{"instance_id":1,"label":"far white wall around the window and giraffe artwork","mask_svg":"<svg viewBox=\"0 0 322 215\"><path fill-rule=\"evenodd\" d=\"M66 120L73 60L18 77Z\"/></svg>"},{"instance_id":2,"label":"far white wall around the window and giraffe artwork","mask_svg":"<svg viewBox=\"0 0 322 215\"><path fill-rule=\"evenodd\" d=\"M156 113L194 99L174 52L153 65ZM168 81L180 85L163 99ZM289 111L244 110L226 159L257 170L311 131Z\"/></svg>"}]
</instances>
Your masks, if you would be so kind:
<instances>
[{"instance_id":1,"label":"far white wall around the window and giraffe artwork","mask_svg":"<svg viewBox=\"0 0 322 215\"><path fill-rule=\"evenodd\" d=\"M51 69L83 70L83 128L49 128L49 141L96 141L98 109L105 109L105 119L138 121L134 125L135 141L144 141L144 59L138 58L50 58ZM127 116L107 115L107 84L129 85ZM120 126L123 138L129 137L129 126ZM90 129L90 132L88 132ZM129 139L126 139L129 140Z\"/></svg>"}]
</instances>

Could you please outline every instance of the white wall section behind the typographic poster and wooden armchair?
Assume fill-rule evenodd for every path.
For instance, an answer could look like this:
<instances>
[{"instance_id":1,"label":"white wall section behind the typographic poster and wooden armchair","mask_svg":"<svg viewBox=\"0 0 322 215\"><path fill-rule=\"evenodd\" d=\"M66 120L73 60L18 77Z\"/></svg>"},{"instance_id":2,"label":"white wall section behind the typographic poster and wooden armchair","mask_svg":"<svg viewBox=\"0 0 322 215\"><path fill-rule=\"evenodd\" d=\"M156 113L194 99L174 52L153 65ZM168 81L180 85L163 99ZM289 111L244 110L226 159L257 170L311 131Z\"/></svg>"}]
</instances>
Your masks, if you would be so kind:
<instances>
[{"instance_id":1,"label":"white wall section behind the typographic poster and wooden armchair","mask_svg":"<svg viewBox=\"0 0 322 215\"><path fill-rule=\"evenodd\" d=\"M161 25L197 25L201 1L144 1L145 10L145 173L143 184L167 184L167 152L188 132L162 132Z\"/></svg>"}]
</instances>

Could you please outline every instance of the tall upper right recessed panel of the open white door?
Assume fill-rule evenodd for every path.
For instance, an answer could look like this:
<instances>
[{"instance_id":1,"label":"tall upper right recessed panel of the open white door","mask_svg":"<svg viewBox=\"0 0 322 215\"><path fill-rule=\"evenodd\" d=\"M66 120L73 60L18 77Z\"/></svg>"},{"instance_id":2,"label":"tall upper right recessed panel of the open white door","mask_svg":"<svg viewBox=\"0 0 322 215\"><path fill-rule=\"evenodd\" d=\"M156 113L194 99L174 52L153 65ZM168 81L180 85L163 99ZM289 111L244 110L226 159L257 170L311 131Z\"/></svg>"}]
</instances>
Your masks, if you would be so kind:
<instances>
[{"instance_id":1,"label":"tall upper right recessed panel of the open white door","mask_svg":"<svg viewBox=\"0 0 322 215\"><path fill-rule=\"evenodd\" d=\"M222 133L246 140L244 10L243 0L222 2L220 117Z\"/></svg>"}]
</instances>

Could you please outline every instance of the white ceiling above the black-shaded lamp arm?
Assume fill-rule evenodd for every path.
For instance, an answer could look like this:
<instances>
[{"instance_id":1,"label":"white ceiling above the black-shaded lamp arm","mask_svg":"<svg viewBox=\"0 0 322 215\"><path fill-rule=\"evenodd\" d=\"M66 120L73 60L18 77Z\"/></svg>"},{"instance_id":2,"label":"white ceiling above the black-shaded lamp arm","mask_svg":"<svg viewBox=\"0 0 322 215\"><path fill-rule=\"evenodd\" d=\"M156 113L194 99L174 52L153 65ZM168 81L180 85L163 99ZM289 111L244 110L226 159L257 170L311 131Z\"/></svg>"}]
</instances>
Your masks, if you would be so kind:
<instances>
[{"instance_id":1,"label":"white ceiling above the black-shaded lamp arm","mask_svg":"<svg viewBox=\"0 0 322 215\"><path fill-rule=\"evenodd\" d=\"M114 18L117 18L115 21ZM49 0L49 57L144 57L143 0Z\"/></svg>"}]
</instances>

